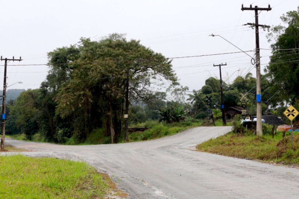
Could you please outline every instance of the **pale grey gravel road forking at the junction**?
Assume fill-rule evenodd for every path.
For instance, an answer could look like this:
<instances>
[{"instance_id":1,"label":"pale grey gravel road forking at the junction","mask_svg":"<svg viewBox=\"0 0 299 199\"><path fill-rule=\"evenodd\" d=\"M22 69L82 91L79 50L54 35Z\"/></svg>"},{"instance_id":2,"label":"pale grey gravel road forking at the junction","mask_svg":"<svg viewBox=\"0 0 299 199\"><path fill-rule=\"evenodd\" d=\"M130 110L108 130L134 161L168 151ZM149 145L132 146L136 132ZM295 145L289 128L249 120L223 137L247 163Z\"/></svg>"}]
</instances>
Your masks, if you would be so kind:
<instances>
[{"instance_id":1,"label":"pale grey gravel road forking at the junction","mask_svg":"<svg viewBox=\"0 0 299 199\"><path fill-rule=\"evenodd\" d=\"M299 198L299 169L193 151L231 127L198 127L138 143L64 146L6 138L28 156L83 160L129 198Z\"/></svg>"}]
</instances>

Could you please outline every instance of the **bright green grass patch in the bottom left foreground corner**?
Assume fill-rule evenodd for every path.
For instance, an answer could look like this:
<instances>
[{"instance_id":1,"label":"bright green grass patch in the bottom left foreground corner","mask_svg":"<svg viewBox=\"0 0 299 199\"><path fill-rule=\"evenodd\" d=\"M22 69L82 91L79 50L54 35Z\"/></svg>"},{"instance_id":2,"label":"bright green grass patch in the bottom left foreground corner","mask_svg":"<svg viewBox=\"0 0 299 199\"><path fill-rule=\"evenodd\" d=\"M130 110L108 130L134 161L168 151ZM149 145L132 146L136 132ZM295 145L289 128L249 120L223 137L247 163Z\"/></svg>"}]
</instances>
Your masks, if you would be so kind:
<instances>
[{"instance_id":1,"label":"bright green grass patch in the bottom left foreground corner","mask_svg":"<svg viewBox=\"0 0 299 199\"><path fill-rule=\"evenodd\" d=\"M1 198L104 198L109 187L83 162L0 156Z\"/></svg>"}]
</instances>

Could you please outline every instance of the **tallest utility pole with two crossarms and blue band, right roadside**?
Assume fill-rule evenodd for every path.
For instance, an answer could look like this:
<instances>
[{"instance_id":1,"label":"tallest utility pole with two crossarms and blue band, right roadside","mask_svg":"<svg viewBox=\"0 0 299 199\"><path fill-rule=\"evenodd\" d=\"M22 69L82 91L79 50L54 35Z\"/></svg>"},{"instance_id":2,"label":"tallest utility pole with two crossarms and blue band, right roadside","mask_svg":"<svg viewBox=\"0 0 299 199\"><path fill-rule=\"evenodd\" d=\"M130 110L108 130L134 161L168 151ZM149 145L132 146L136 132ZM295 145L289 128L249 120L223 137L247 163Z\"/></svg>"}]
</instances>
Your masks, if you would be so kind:
<instances>
[{"instance_id":1,"label":"tallest utility pole with two crossarms and blue band, right roadside","mask_svg":"<svg viewBox=\"0 0 299 199\"><path fill-rule=\"evenodd\" d=\"M262 131L262 97L261 97L261 74L260 74L260 39L259 39L259 26L263 27L264 30L268 28L269 31L269 26L266 25L259 25L259 16L258 16L258 11L269 11L272 10L270 7L270 4L267 8L260 8L257 6L252 7L243 7L242 4L242 11L244 10L254 10L254 15L255 15L255 24L247 24L247 25L252 25L252 27L255 26L255 57L256 57L256 69L257 69L257 136L262 136L263 131Z\"/></svg>"}]
</instances>

